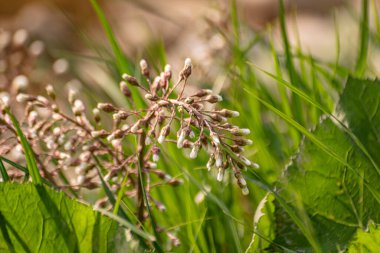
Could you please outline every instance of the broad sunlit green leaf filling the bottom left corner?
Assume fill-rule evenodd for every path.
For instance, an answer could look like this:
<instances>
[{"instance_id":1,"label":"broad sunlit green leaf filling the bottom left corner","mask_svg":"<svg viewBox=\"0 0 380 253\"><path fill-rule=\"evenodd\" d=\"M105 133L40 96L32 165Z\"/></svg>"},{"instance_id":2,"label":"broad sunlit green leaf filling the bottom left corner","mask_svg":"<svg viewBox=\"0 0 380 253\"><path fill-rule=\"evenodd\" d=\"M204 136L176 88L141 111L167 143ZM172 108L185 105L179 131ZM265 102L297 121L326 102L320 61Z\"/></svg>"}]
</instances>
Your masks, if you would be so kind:
<instances>
[{"instance_id":1,"label":"broad sunlit green leaf filling the bottom left corner","mask_svg":"<svg viewBox=\"0 0 380 253\"><path fill-rule=\"evenodd\" d=\"M122 228L43 185L0 184L0 252L115 252Z\"/></svg>"}]
</instances>

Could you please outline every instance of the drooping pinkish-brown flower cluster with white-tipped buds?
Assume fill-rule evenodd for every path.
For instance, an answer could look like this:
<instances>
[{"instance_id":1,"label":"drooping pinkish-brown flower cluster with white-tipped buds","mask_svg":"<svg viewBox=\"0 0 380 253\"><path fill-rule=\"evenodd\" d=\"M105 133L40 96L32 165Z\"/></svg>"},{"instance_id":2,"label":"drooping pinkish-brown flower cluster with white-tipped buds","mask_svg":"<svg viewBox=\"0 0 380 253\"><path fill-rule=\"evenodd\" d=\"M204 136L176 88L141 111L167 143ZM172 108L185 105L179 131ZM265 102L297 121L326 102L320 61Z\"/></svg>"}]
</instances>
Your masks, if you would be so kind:
<instances>
[{"instance_id":1,"label":"drooping pinkish-brown flower cluster with white-tipped buds","mask_svg":"<svg viewBox=\"0 0 380 253\"><path fill-rule=\"evenodd\" d=\"M244 146L252 144L245 138L250 131L228 122L229 118L239 116L239 112L216 109L222 97L211 90L188 94L186 87L193 71L190 59L185 60L176 82L172 80L170 65L154 78L145 60L140 62L140 68L143 78L124 74L120 90L129 101L132 92L138 92L144 98L144 108L98 103L91 115L78 94L70 90L67 97L71 112L67 112L57 103L52 85L46 87L46 97L17 95L17 101L25 104L23 131L36 153L42 176L59 188L72 190L99 188L103 180L112 191L123 189L124 196L136 198L138 218L144 221L147 213L141 175L149 201L161 211L165 206L151 196L151 188L181 184L180 179L171 177L157 165L164 143L172 143L178 149L187 149L191 159L197 158L199 152L206 152L209 156L206 167L209 171L217 170L218 181L223 180L227 169L232 169L243 194L248 194L241 171L258 165L243 155ZM6 106L3 102L3 109ZM112 127L107 128L102 122L111 118ZM0 143L1 147L7 146L2 154L12 150L20 153L20 144L12 136L13 126L4 112L0 122L3 134L8 130L7 140L13 138ZM135 140L137 145L131 145ZM19 174L14 178L20 177ZM152 176L159 182L152 184ZM107 198L97 202L102 207L109 204Z\"/></svg>"}]
</instances>

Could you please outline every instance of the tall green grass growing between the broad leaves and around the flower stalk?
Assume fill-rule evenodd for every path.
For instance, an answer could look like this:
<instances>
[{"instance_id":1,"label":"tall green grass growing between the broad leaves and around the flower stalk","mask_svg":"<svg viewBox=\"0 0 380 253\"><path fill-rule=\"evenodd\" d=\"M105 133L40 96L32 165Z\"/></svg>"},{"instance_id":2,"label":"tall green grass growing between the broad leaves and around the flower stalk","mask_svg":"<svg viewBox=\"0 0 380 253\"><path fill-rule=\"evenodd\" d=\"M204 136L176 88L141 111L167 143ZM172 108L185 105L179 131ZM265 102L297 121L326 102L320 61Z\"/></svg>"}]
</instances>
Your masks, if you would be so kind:
<instances>
[{"instance_id":1,"label":"tall green grass growing between the broad leaves and around the flower stalk","mask_svg":"<svg viewBox=\"0 0 380 253\"><path fill-rule=\"evenodd\" d=\"M120 42L113 33L106 14L96 0L90 0L90 2L104 28L111 48L109 55L112 59L107 59L107 62L103 63L116 66L119 74L134 73L136 66L130 62L137 62L138 59L128 59L123 54ZM373 3L375 5L375 1ZM167 249L163 241L168 240L168 238L160 239L161 235L156 233L159 229L169 231L179 237L181 245L174 249L175 252L244 252L251 241L252 234L255 233L253 225L255 210L267 192L271 192L288 212L294 224L302 231L314 251L321 252L313 227L308 222L309 217L303 212L302 207L297 210L290 208L276 194L274 185L304 137L312 140L321 152L329 154L343 165L350 167L342 157L336 155L334 150L315 137L309 129L318 124L322 115L335 117L333 115L335 98L341 92L343 82L348 75L363 77L368 73L369 48L377 43L376 39L380 38L378 16L375 15L377 30L371 31L369 1L363 0L361 19L358 23L360 37L359 46L356 49L356 63L355 66L346 66L339 60L341 38L338 32L335 49L338 56L332 63L316 59L315 56L305 52L300 44L290 43L287 13L283 0L279 1L277 24L281 34L280 49L276 48L273 41L272 28L268 29L267 33L252 32L252 38L248 39L249 43L244 44L241 29L246 29L246 25L239 19L238 9L236 0L231 0L230 29L215 27L215 32L221 33L222 37L229 41L227 45L230 57L218 63L221 66L220 71L227 73L229 82L234 84L224 92L224 103L241 113L241 117L235 119L234 123L252 130L250 137L255 144L246 151L250 158L261 166L259 170L252 168L245 172L250 194L243 196L240 189L232 184L234 177L231 172L226 175L223 183L214 180L215 175L209 173L204 166L207 162L205 155L200 154L197 160L185 160L184 155L177 148L167 145L158 166L165 168L174 177L183 179L183 185L176 188L162 186L152 190L153 197L160 199L166 206L166 211L163 213L157 208L150 208L153 203L148 201L143 191L150 219L145 224L138 225L142 230L155 234L157 240L154 241L154 247L159 252ZM274 73L255 64L252 53L255 47L265 50L267 57L272 59ZM164 46L160 44L155 49L155 57L158 58L156 64L163 67L166 62ZM263 78L263 75L266 78ZM272 80L275 86L270 85L268 80ZM119 81L115 80L115 85ZM114 88L103 87L108 94L112 94ZM132 90L132 97L136 102L136 107L141 108L144 100L136 90ZM28 172L34 182L42 183L33 153L16 119L13 117L12 119L27 160L27 168L20 167L20 169ZM365 153L364 147L363 151ZM0 173L3 180L7 181L9 177L3 162L11 163L11 161L0 157ZM125 220L128 224L136 223L133 203L123 196L123 188L116 193L109 189L103 180L104 168L101 161L97 160L97 164L104 191L101 194L107 195L113 205L113 214L109 215L117 215L117 218ZM18 165L13 164L13 166ZM140 187L144 189L141 171L140 179ZM154 179L152 180L154 182ZM269 242L273 240L261 234L257 235ZM142 247L144 246L146 245L142 244ZM276 246L286 249L285 245L277 244ZM288 250L291 251L291 249Z\"/></svg>"}]
</instances>

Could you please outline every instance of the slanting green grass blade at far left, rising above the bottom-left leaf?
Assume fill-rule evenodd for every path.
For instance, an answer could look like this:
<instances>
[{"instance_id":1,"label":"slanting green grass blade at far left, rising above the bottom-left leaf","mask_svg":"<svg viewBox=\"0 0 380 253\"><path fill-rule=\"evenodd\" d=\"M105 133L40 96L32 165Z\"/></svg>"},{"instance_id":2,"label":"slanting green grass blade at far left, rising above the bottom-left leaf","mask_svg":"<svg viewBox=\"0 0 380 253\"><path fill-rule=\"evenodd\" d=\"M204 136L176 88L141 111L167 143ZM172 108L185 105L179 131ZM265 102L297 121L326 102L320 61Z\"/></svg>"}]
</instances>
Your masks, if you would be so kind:
<instances>
[{"instance_id":1,"label":"slanting green grass blade at far left, rising above the bottom-left leaf","mask_svg":"<svg viewBox=\"0 0 380 253\"><path fill-rule=\"evenodd\" d=\"M26 165L29 170L29 174L32 176L33 183L42 184L42 177L37 167L36 157L34 156L34 152L20 128L20 124L9 109L7 109L6 112L11 118L12 124L16 129L18 137L20 138L21 146L25 153Z\"/></svg>"}]
</instances>

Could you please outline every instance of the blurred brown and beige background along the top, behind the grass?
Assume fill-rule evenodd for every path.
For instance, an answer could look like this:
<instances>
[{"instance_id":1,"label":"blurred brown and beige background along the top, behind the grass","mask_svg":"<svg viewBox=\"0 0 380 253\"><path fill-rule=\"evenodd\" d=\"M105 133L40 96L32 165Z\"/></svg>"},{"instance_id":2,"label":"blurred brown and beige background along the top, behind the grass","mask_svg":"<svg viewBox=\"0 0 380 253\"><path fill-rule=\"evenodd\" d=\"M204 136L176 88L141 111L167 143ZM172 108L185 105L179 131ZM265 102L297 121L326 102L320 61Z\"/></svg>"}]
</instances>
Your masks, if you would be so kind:
<instances>
[{"instance_id":1,"label":"blurred brown and beige background along the top, behind the grass","mask_svg":"<svg viewBox=\"0 0 380 253\"><path fill-rule=\"evenodd\" d=\"M371 8L375 7L375 3L372 1ZM157 52L164 52L165 59L161 53L160 64L163 66L164 61L170 62L178 71L183 59L191 57L203 81L221 88L228 87L227 83L222 84L223 78L218 78L221 68L215 58L225 62L231 54L228 45L229 33L233 32L230 24L231 1L103 0L100 4L122 50L133 61L147 58L156 64L155 59L160 58ZM360 1L289 0L285 4L291 44L299 45L304 52L320 60L334 61L339 57L347 64L354 64L355 51L352 48L356 48L359 41L350 38L358 36L359 26L356 24L360 16ZM257 37L265 33L270 34L267 39L273 39L276 50L282 50L277 19L278 1L238 0L237 9L241 21L239 43L247 45L247 55L255 64L273 70L267 51L261 50L260 45L253 45ZM370 11L370 15L374 12ZM105 55L112 51L90 1L1 1L0 29L11 32L25 29L28 40L37 39L49 45L46 49L52 58L65 58L63 63L58 62L63 67L74 61L73 72L77 72L77 77L80 74L82 81L98 84L110 82L109 76L100 71L99 65L88 61L89 57L99 56L99 51L106 52ZM337 43L339 50L335 50ZM373 53L375 56L378 54L377 51ZM102 58L107 57L103 54ZM377 62L373 60L372 64L379 64ZM54 60L51 59L50 65L53 64ZM3 79L0 78L0 82Z\"/></svg>"}]
</instances>

